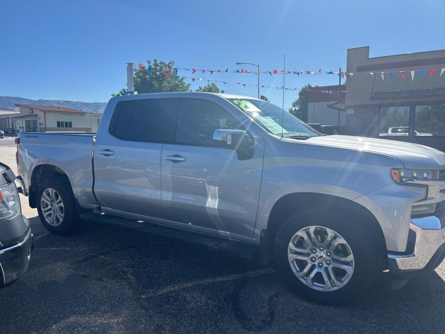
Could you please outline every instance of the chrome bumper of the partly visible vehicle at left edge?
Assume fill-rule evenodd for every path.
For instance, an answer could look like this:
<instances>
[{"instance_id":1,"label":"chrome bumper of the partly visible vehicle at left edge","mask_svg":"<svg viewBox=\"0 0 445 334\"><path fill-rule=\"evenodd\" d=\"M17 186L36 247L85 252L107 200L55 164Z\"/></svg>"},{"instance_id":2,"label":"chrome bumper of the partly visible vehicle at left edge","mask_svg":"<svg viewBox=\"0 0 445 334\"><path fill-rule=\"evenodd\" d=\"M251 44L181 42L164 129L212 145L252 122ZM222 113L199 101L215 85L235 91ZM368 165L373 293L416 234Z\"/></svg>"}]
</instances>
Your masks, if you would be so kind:
<instances>
[{"instance_id":1,"label":"chrome bumper of the partly visible vehicle at left edge","mask_svg":"<svg viewBox=\"0 0 445 334\"><path fill-rule=\"evenodd\" d=\"M23 219L27 218L23 217ZM31 228L28 228L23 240L0 250L0 286L15 281L28 269L32 237Z\"/></svg>"}]
</instances>

